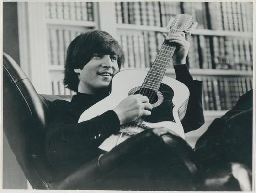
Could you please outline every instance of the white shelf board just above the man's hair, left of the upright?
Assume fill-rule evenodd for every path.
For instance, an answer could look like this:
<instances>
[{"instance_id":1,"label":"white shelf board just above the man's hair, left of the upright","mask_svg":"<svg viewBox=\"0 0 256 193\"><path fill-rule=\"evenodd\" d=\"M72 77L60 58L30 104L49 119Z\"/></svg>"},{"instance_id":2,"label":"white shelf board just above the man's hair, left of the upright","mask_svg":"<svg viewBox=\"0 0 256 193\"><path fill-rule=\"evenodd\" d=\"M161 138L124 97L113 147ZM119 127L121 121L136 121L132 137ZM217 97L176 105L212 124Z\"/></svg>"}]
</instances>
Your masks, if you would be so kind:
<instances>
[{"instance_id":1,"label":"white shelf board just above the man's hair, left of the upright","mask_svg":"<svg viewBox=\"0 0 256 193\"><path fill-rule=\"evenodd\" d=\"M96 22L94 22L94 21L76 21L76 20L64 20L64 19L47 19L46 23L47 24L52 24L52 25L96 27Z\"/></svg>"}]
</instances>

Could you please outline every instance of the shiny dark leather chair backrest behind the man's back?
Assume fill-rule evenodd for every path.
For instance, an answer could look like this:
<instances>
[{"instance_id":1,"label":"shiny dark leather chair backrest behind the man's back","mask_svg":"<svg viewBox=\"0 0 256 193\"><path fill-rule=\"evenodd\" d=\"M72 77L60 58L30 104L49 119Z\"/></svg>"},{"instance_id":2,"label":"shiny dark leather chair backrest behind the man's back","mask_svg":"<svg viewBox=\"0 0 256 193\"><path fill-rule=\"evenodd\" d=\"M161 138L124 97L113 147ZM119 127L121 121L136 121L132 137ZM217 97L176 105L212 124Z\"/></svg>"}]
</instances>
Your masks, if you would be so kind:
<instances>
[{"instance_id":1,"label":"shiny dark leather chair backrest behind the man's back","mask_svg":"<svg viewBox=\"0 0 256 193\"><path fill-rule=\"evenodd\" d=\"M16 62L3 53L3 131L35 189L46 189L47 182L54 179L54 170L48 165L44 151L49 103L71 97L38 95Z\"/></svg>"}]
</instances>

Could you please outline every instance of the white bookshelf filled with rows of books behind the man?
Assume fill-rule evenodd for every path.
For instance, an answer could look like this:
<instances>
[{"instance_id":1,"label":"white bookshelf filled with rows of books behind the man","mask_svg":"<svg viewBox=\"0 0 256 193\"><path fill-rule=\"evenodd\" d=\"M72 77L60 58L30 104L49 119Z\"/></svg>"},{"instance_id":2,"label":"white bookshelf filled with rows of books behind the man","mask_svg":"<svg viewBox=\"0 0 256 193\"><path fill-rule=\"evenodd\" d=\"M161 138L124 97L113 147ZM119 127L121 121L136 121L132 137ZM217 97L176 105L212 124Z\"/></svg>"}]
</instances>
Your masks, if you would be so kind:
<instances>
[{"instance_id":1,"label":"white bookshelf filled with rows of books behind the man","mask_svg":"<svg viewBox=\"0 0 256 193\"><path fill-rule=\"evenodd\" d=\"M124 50L126 59L122 69L147 70L164 40L161 33L167 31L168 20L178 13L191 14L198 22L192 35L187 36L191 43L187 64L193 77L204 82L204 109L212 112L229 110L239 96L252 88L252 2L59 1L19 4L20 10L39 14L35 17L37 22L28 17L30 14L23 16L23 20L28 17L31 21L21 25L24 37L19 39L22 46L26 45L22 41L28 39L27 34L31 34L27 44L40 34L42 38L38 38L38 44L45 45L44 52L34 44L27 53L21 53L21 60L26 64L26 55L43 53L40 55L43 62L37 65L44 66L41 67L43 73L32 65L36 63L35 58L23 68L31 74L38 89L50 88L46 89L48 94L73 94L64 88L62 79L67 46L77 35L90 29L105 30ZM20 13L19 18L22 18L24 14ZM36 26L40 22L45 25L44 30ZM26 26L33 29L26 32ZM37 76L49 77L51 81L47 85L40 80L36 82ZM172 65L167 69L167 76L175 76Z\"/></svg>"}]
</instances>

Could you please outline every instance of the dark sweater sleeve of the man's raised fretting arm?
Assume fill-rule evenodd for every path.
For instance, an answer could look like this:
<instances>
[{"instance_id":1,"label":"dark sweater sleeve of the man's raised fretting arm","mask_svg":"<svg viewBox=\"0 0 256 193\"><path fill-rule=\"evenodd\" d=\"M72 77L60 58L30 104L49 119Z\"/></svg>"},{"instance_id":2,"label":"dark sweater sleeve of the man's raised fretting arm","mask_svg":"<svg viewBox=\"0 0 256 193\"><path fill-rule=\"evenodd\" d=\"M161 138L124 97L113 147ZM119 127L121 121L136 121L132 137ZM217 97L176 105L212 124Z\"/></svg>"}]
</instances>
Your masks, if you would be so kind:
<instances>
[{"instance_id":1,"label":"dark sweater sleeve of the man's raised fretting arm","mask_svg":"<svg viewBox=\"0 0 256 193\"><path fill-rule=\"evenodd\" d=\"M205 120L202 105L202 81L193 80L187 64L174 66L176 80L184 83L189 91L187 111L181 121L185 133L200 128Z\"/></svg>"}]
</instances>

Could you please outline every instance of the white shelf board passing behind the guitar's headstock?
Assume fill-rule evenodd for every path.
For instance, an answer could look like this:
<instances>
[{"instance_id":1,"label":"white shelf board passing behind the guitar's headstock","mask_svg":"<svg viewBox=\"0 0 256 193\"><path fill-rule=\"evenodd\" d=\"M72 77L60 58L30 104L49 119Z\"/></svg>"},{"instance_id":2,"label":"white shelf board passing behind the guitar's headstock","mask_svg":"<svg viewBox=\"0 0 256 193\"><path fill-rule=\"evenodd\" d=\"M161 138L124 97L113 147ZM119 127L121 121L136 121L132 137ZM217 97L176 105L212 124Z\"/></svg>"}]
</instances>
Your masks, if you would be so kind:
<instances>
[{"instance_id":1,"label":"white shelf board passing behind the guitar's headstock","mask_svg":"<svg viewBox=\"0 0 256 193\"><path fill-rule=\"evenodd\" d=\"M166 28L159 26L147 26L147 25L135 25L135 24L116 24L118 29L125 30L140 30L140 31L159 31L168 32ZM241 38L252 38L252 32L240 32L240 31L221 31L221 30L209 30L209 29L194 29L192 34L195 35L208 35L208 36L233 36Z\"/></svg>"}]
</instances>

